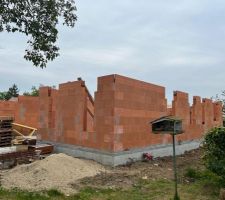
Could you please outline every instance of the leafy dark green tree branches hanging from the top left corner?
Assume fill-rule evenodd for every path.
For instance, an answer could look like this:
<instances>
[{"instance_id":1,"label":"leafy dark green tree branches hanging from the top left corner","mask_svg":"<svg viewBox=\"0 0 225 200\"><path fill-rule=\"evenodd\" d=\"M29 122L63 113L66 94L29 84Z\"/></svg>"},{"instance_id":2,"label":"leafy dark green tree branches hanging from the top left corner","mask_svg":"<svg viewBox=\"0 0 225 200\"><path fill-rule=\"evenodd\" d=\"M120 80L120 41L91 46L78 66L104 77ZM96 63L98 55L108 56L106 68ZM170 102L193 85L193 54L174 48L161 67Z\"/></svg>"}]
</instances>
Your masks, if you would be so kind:
<instances>
[{"instance_id":1,"label":"leafy dark green tree branches hanging from the top left corner","mask_svg":"<svg viewBox=\"0 0 225 200\"><path fill-rule=\"evenodd\" d=\"M24 58L34 66L44 68L59 56L56 28L63 18L63 25L74 27L77 16L74 0L1 0L0 32L20 32L29 37L29 47Z\"/></svg>"}]
</instances>

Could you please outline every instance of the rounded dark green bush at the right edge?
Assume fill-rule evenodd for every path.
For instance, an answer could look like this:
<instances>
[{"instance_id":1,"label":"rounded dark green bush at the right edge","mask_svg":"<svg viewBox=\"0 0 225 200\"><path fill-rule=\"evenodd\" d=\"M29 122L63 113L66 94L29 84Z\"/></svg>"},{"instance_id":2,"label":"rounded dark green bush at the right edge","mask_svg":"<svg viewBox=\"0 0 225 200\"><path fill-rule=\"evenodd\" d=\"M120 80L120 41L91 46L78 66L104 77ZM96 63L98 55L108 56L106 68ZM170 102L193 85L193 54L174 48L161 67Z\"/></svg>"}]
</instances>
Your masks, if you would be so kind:
<instances>
[{"instance_id":1,"label":"rounded dark green bush at the right edge","mask_svg":"<svg viewBox=\"0 0 225 200\"><path fill-rule=\"evenodd\" d=\"M204 138L204 163L225 183L225 127L210 130Z\"/></svg>"}]
</instances>

